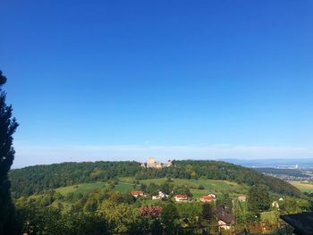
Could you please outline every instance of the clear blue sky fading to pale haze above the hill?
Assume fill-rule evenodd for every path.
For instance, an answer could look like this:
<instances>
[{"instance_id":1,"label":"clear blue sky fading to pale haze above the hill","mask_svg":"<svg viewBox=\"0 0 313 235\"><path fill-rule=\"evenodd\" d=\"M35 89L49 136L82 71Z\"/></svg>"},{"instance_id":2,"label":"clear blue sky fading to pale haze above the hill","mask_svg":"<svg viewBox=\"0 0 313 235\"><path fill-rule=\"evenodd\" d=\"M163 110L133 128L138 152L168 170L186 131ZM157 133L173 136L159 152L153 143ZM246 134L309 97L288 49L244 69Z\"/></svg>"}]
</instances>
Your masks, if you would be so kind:
<instances>
[{"instance_id":1,"label":"clear blue sky fading to pale haze above the hill","mask_svg":"<svg viewBox=\"0 0 313 235\"><path fill-rule=\"evenodd\" d=\"M313 157L312 1L0 9L14 167Z\"/></svg>"}]
</instances>

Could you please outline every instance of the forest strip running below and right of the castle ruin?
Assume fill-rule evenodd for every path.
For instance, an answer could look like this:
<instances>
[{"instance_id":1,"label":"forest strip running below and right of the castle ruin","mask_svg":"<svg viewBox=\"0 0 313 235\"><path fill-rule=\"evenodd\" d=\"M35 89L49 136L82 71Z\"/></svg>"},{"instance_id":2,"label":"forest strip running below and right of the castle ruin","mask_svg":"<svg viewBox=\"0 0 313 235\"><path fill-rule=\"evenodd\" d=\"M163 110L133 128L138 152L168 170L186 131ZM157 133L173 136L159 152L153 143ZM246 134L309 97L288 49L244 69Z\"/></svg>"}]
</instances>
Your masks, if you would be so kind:
<instances>
[{"instance_id":1,"label":"forest strip running below and right of the castle ruin","mask_svg":"<svg viewBox=\"0 0 313 235\"><path fill-rule=\"evenodd\" d=\"M163 169L143 169L137 173L140 179L173 177L182 179L212 179L230 180L243 183L248 186L257 184L266 185L271 191L289 195L300 196L300 190L293 187L286 181L263 175L250 168L236 164L228 164L221 161L173 161L174 167Z\"/></svg>"}]
</instances>

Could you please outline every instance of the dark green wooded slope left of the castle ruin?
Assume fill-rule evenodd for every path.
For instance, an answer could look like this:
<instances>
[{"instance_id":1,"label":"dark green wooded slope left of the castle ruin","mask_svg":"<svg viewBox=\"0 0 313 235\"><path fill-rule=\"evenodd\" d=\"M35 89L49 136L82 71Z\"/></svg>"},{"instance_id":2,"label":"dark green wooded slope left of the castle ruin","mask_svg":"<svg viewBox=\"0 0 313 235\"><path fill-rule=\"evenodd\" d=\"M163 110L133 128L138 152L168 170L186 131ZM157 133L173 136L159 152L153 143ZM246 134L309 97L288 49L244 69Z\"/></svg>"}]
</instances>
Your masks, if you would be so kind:
<instances>
[{"instance_id":1,"label":"dark green wooded slope left of the castle ruin","mask_svg":"<svg viewBox=\"0 0 313 235\"><path fill-rule=\"evenodd\" d=\"M84 162L29 166L12 170L9 177L13 197L21 197L45 189L131 176L139 171L140 164L136 162Z\"/></svg>"}]
</instances>

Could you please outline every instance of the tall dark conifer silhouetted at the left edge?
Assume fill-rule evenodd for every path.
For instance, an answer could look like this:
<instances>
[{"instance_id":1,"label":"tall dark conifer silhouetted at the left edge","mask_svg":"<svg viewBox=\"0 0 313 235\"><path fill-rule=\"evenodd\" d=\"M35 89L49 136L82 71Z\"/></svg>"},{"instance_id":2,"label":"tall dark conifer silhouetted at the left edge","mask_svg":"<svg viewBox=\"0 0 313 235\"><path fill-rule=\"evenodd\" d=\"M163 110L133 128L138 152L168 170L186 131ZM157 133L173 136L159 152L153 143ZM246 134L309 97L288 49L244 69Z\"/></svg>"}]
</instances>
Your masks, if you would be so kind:
<instances>
[{"instance_id":1,"label":"tall dark conifer silhouetted at the left edge","mask_svg":"<svg viewBox=\"0 0 313 235\"><path fill-rule=\"evenodd\" d=\"M8 172L13 164L13 133L18 123L12 117L12 106L5 104L5 76L0 71L0 234L14 234L14 206L10 195Z\"/></svg>"}]
</instances>

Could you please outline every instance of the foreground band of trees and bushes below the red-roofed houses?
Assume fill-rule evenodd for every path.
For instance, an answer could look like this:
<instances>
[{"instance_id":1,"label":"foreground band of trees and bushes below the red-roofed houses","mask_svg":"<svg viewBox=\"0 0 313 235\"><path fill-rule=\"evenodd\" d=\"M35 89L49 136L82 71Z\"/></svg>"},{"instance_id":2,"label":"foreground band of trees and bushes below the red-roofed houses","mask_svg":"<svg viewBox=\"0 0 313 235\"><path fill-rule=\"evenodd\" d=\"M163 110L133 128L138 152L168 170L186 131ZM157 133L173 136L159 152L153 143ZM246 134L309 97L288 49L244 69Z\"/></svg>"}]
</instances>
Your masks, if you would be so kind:
<instances>
[{"instance_id":1,"label":"foreground band of trees and bushes below the red-roofed houses","mask_svg":"<svg viewBox=\"0 0 313 235\"><path fill-rule=\"evenodd\" d=\"M28 234L177 234L177 230L181 230L178 234L203 234L203 227L208 231L218 231L216 210L225 203L229 204L227 211L236 215L236 226L241 231L242 224L260 224L263 221L258 208L259 211L270 209L265 214L273 218L267 216L266 220L270 219L268 222L271 224L277 223L280 213L277 208L268 207L268 195L260 192L263 189L264 186L250 188L251 195L258 195L249 197L251 203L256 203L257 213L250 211L247 203L229 195L217 197L216 202L211 203L194 200L174 203L173 194L167 200L134 198L130 193L115 192L109 185L76 194L47 190L15 201L20 219L17 227ZM280 206L283 214L310 208L308 202L292 197L285 197Z\"/></svg>"}]
</instances>

